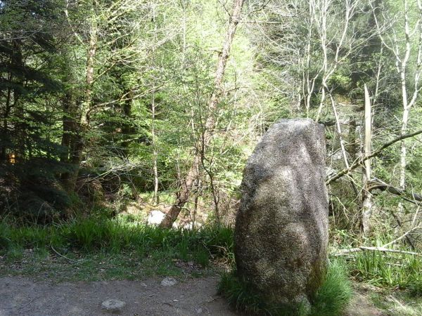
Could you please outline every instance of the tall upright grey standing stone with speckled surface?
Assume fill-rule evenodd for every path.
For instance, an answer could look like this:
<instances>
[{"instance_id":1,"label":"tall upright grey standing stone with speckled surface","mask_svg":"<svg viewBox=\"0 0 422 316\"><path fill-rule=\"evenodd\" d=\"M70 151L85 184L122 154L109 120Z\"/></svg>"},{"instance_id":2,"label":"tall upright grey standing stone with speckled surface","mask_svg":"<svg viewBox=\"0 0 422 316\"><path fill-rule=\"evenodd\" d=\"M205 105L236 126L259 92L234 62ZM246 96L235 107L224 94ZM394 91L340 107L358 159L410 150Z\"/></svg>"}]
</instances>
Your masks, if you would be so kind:
<instances>
[{"instance_id":1,"label":"tall upright grey standing stone with speckled surface","mask_svg":"<svg viewBox=\"0 0 422 316\"><path fill-rule=\"evenodd\" d=\"M243 171L236 216L238 277L268 303L309 304L324 280L328 246L324 126L283 119Z\"/></svg>"}]
</instances>

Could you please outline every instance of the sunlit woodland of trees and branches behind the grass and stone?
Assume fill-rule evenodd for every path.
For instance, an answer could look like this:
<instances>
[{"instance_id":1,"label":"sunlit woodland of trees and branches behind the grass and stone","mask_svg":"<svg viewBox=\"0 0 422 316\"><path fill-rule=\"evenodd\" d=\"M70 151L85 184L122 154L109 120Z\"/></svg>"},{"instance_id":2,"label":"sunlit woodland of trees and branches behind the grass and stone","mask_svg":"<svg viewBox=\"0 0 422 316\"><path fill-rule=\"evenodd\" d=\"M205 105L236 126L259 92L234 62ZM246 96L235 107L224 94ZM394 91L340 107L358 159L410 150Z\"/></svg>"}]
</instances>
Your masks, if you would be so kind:
<instances>
[{"instance_id":1,"label":"sunlit woodland of trees and branches behind the grass and stone","mask_svg":"<svg viewBox=\"0 0 422 316\"><path fill-rule=\"evenodd\" d=\"M417 253L421 65L421 0L1 0L2 223L230 225L260 137L308 117L331 246Z\"/></svg>"}]
</instances>

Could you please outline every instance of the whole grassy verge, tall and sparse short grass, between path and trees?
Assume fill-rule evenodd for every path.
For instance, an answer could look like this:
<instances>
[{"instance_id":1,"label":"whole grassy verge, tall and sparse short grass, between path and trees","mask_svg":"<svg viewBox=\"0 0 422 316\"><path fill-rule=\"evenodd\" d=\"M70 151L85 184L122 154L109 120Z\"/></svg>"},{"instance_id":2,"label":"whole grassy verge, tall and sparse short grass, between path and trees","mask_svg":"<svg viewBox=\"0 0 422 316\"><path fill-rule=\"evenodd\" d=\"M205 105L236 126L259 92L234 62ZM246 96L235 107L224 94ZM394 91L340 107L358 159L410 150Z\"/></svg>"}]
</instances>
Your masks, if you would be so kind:
<instances>
[{"instance_id":1,"label":"whole grassy verge, tall and sparse short grass, between path and trees","mask_svg":"<svg viewBox=\"0 0 422 316\"><path fill-rule=\"evenodd\" d=\"M3 274L63 279L131 279L186 271L200 275L210 261L234 261L233 230L222 226L162 229L130 217L44 226L3 221L0 258Z\"/></svg>"}]
</instances>

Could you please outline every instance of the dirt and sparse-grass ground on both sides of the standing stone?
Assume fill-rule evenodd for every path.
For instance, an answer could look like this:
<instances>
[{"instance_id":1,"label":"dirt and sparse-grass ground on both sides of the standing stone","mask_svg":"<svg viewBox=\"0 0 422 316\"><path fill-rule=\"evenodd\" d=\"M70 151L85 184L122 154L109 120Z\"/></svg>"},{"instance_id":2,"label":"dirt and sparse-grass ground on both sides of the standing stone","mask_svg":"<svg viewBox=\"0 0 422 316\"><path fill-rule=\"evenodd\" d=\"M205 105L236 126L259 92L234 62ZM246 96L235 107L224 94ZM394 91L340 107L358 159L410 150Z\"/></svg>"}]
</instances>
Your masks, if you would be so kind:
<instances>
[{"instance_id":1,"label":"dirt and sparse-grass ground on both sides of the standing stone","mask_svg":"<svg viewBox=\"0 0 422 316\"><path fill-rule=\"evenodd\" d=\"M214 265L204 269L176 261L173 270L157 273L148 270L151 266L145 262L121 270L122 264L110 257L89 260L78 265L54 254L42 260L30 252L14 261L0 256L0 315L110 315L101 308L109 299L126 303L120 315L240 315L217 295L221 268ZM159 265L156 262L155 269ZM166 277L177 282L163 285ZM347 316L418 315L420 311L418 302L415 308L397 291L353 284Z\"/></svg>"}]
</instances>

